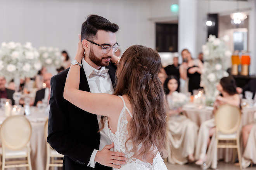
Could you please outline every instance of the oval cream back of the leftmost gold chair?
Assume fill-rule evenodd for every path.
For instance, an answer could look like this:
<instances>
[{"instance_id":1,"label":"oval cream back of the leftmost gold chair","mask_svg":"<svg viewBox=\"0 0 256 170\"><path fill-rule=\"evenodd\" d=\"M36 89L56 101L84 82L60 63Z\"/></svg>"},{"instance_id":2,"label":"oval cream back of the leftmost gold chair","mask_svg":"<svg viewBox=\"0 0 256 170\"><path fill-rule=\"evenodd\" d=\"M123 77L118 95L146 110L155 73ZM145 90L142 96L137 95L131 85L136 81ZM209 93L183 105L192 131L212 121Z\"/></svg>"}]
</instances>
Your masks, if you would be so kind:
<instances>
[{"instance_id":1,"label":"oval cream back of the leftmost gold chair","mask_svg":"<svg viewBox=\"0 0 256 170\"><path fill-rule=\"evenodd\" d=\"M21 150L30 141L32 133L31 124L24 116L10 116L0 128L2 145L9 150Z\"/></svg>"}]
</instances>

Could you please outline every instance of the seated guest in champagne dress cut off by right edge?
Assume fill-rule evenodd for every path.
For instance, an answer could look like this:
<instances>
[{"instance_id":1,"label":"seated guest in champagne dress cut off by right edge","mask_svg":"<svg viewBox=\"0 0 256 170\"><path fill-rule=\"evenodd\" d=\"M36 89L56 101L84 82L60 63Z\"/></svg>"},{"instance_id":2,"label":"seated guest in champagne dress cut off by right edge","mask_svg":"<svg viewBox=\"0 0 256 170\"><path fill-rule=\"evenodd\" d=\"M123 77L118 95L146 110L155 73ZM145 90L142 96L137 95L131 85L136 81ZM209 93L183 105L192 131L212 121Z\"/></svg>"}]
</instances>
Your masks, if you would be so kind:
<instances>
[{"instance_id":1,"label":"seated guest in champagne dress cut off by right edge","mask_svg":"<svg viewBox=\"0 0 256 170\"><path fill-rule=\"evenodd\" d=\"M256 163L256 124L251 123L243 126L242 139L244 146L244 153L242 156L242 168L247 168L251 162Z\"/></svg>"}]
</instances>

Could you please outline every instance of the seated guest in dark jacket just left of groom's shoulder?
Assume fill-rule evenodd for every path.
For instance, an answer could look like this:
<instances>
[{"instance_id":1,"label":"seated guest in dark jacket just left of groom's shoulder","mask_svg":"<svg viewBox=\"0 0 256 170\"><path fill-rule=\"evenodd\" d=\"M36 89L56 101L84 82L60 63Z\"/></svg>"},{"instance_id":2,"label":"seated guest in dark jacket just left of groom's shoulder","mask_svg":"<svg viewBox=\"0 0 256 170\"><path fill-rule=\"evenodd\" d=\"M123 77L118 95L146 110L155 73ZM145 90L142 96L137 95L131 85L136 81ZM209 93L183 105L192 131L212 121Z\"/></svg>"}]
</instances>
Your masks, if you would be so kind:
<instances>
[{"instance_id":1,"label":"seated guest in dark jacket just left of groom's shoulder","mask_svg":"<svg viewBox=\"0 0 256 170\"><path fill-rule=\"evenodd\" d=\"M43 88L43 89L38 90L36 92L36 98L35 98L34 106L37 106L38 103L42 103L43 99L47 99L49 101L50 92L51 92L51 85L50 85L51 78L52 78L51 73L45 73L43 75L43 82L45 83L46 88Z\"/></svg>"}]
</instances>

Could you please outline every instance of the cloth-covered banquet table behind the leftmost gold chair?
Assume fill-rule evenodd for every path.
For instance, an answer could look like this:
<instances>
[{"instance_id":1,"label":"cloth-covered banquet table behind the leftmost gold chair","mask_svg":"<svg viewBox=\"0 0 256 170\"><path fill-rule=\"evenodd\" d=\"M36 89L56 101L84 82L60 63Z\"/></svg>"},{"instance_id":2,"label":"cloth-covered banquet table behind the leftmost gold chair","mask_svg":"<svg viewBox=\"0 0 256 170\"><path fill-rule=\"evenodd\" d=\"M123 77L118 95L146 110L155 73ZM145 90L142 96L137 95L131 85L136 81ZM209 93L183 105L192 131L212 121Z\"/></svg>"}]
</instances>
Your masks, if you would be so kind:
<instances>
[{"instance_id":1,"label":"cloth-covered banquet table behind the leftmost gold chair","mask_svg":"<svg viewBox=\"0 0 256 170\"><path fill-rule=\"evenodd\" d=\"M43 170L46 165L46 139L44 136L44 125L48 119L48 114L44 110L38 110L37 107L30 107L31 115L25 116L32 126L31 134L31 163L33 170ZM0 111L0 124L7 117L3 110ZM0 142L0 145L2 143ZM7 168L7 170L26 170L25 167L20 168Z\"/></svg>"}]
</instances>

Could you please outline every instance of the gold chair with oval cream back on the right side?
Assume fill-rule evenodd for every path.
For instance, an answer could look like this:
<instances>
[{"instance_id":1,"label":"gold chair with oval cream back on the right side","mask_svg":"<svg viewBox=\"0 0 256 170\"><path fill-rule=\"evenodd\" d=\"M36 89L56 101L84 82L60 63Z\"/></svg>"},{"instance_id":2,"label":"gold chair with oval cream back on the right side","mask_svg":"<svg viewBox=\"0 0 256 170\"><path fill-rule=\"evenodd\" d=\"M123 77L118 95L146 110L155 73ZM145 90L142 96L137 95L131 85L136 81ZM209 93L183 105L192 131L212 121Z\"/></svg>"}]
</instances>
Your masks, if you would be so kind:
<instances>
[{"instance_id":1,"label":"gold chair with oval cream back on the right side","mask_svg":"<svg viewBox=\"0 0 256 170\"><path fill-rule=\"evenodd\" d=\"M235 106L221 105L215 113L217 148L236 148L240 169L242 169L239 143L240 122L241 111Z\"/></svg>"}]
</instances>

